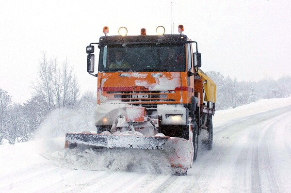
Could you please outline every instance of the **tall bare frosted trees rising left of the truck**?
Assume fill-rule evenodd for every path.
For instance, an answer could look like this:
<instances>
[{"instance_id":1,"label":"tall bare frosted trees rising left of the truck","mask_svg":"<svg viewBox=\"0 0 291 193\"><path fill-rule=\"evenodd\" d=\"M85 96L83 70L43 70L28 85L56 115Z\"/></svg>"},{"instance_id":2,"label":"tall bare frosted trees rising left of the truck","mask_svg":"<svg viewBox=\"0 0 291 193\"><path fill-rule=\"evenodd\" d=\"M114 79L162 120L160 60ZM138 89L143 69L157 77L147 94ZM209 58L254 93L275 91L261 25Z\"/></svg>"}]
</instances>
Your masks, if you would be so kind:
<instances>
[{"instance_id":1,"label":"tall bare frosted trees rising left of the truck","mask_svg":"<svg viewBox=\"0 0 291 193\"><path fill-rule=\"evenodd\" d=\"M58 67L57 59L43 58L38 67L38 80L32 85L34 96L40 96L48 112L60 107L75 107L80 95L77 78L73 67L69 67L67 60Z\"/></svg>"}]
</instances>

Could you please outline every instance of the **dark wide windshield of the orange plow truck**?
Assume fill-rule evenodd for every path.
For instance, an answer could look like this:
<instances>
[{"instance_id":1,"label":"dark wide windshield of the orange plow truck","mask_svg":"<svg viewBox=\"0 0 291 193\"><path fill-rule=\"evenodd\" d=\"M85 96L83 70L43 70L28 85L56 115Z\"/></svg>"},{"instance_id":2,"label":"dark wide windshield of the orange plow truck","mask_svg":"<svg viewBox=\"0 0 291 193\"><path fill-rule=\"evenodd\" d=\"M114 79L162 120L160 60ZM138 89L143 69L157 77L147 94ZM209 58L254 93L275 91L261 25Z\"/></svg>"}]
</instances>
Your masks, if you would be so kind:
<instances>
[{"instance_id":1,"label":"dark wide windshield of the orange plow truck","mask_svg":"<svg viewBox=\"0 0 291 193\"><path fill-rule=\"evenodd\" d=\"M101 47L98 72L182 72L185 45L128 44Z\"/></svg>"}]
</instances>

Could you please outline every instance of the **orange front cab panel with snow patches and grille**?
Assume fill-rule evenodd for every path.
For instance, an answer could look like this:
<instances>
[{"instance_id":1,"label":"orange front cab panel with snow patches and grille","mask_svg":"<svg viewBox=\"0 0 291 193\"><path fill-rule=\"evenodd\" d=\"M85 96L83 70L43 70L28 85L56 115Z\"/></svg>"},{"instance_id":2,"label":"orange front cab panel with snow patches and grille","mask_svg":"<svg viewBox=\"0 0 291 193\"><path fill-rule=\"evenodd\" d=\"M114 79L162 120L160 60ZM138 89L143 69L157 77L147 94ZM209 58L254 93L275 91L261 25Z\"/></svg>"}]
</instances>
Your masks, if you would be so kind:
<instances>
[{"instance_id":1,"label":"orange front cab panel with snow patches and grille","mask_svg":"<svg viewBox=\"0 0 291 193\"><path fill-rule=\"evenodd\" d=\"M188 104L194 95L188 79L186 72L98 73L98 104Z\"/></svg>"}]
</instances>

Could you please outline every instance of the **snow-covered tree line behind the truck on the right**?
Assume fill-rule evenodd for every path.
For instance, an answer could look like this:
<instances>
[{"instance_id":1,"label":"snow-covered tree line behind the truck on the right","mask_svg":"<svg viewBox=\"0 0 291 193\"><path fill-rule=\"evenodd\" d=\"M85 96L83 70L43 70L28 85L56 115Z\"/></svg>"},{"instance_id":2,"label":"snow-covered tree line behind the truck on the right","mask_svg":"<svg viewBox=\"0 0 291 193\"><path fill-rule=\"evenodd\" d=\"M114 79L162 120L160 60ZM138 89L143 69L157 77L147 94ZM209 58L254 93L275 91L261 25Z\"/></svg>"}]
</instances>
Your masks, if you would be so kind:
<instances>
[{"instance_id":1,"label":"snow-covered tree line behind the truck on the right","mask_svg":"<svg viewBox=\"0 0 291 193\"><path fill-rule=\"evenodd\" d=\"M278 80L266 78L260 81L237 81L220 72L209 71L206 74L216 84L216 110L235 108L255 102L259 98L286 97L291 95L291 77Z\"/></svg>"}]
</instances>

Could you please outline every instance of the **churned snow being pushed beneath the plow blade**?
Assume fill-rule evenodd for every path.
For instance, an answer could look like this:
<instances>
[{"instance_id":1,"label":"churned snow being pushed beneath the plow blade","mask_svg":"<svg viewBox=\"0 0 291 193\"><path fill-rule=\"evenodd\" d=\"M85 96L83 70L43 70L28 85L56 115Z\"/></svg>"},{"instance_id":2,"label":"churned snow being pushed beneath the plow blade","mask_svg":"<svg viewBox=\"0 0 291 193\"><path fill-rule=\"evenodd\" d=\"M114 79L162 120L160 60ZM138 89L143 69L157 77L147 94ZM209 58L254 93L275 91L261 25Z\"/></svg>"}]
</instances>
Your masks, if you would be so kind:
<instances>
[{"instance_id":1,"label":"churned snow being pushed beneath the plow blade","mask_svg":"<svg viewBox=\"0 0 291 193\"><path fill-rule=\"evenodd\" d=\"M161 150L63 149L48 157L54 165L70 169L171 174L170 164Z\"/></svg>"}]
</instances>

